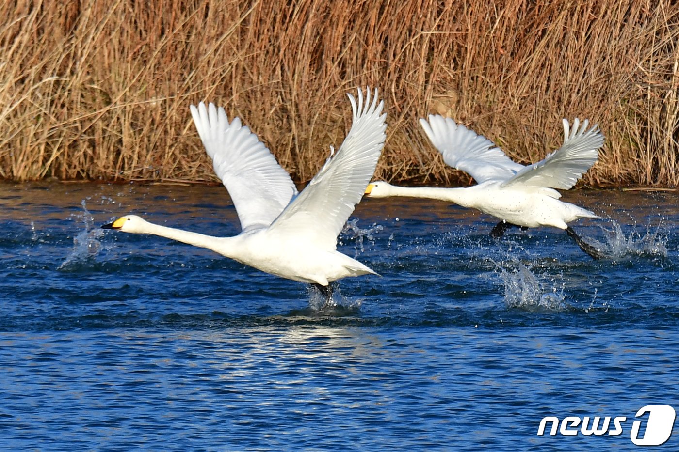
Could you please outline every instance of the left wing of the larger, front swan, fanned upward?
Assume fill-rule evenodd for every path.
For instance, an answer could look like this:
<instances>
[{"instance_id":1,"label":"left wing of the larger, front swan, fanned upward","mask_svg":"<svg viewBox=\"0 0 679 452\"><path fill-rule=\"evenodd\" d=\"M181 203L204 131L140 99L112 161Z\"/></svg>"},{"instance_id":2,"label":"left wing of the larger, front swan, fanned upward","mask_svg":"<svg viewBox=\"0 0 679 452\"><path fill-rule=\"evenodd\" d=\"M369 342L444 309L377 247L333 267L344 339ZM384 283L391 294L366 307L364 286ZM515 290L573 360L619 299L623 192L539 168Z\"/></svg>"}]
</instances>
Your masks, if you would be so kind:
<instances>
[{"instance_id":1,"label":"left wing of the larger, front swan, fanned upward","mask_svg":"<svg viewBox=\"0 0 679 452\"><path fill-rule=\"evenodd\" d=\"M215 174L229 191L243 230L268 227L297 194L290 175L238 117L200 102L191 115Z\"/></svg>"}]
</instances>

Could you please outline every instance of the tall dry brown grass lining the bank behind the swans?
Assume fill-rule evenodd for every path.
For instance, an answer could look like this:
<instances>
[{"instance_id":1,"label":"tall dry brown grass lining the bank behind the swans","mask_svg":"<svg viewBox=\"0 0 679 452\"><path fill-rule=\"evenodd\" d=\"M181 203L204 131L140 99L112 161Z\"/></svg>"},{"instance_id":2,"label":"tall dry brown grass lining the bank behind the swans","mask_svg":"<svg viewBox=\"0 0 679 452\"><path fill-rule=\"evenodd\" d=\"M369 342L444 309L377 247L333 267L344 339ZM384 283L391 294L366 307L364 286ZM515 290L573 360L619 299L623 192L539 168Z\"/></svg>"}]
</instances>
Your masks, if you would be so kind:
<instances>
[{"instance_id":1,"label":"tall dry brown grass lining the bank behind the swans","mask_svg":"<svg viewBox=\"0 0 679 452\"><path fill-rule=\"evenodd\" d=\"M607 140L585 183L679 182L669 0L16 0L0 22L0 178L214 180L188 111L210 100L308 181L370 85L380 178L469 182L418 126L443 113L524 163L589 117Z\"/></svg>"}]
</instances>

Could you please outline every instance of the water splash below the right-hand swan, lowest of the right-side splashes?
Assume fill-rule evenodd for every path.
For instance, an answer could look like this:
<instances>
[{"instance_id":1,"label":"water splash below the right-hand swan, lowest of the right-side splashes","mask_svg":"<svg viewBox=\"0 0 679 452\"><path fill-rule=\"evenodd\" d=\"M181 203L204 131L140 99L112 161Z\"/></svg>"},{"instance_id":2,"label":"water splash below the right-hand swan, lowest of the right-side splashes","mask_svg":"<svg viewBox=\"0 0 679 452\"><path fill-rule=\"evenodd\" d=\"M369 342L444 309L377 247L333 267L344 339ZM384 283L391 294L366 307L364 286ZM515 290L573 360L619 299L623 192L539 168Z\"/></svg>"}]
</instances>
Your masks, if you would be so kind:
<instances>
[{"instance_id":1,"label":"water splash below the right-hand swan, lowest of the right-side splashes","mask_svg":"<svg viewBox=\"0 0 679 452\"><path fill-rule=\"evenodd\" d=\"M513 271L500 267L500 276L504 282L504 303L507 307L553 312L568 309L564 302L563 285L549 288L547 287L549 284L538 280L526 265L520 262L516 262L515 265Z\"/></svg>"}]
</instances>

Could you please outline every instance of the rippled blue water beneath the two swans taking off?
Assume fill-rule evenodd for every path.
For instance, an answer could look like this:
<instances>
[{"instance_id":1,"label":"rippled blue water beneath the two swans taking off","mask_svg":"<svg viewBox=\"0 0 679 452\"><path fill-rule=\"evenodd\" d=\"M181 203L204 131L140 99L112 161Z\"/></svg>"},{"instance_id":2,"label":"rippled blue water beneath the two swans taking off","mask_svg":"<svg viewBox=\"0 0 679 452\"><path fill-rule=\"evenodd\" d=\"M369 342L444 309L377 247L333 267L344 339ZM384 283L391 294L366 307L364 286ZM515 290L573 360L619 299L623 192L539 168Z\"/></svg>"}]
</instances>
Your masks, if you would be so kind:
<instances>
[{"instance_id":1,"label":"rippled blue water beneath the two swans taking off","mask_svg":"<svg viewBox=\"0 0 679 452\"><path fill-rule=\"evenodd\" d=\"M221 187L1 185L0 437L10 450L631 450L679 408L677 194L577 191L603 219L489 233L478 212L365 200L340 247L382 277L304 284L103 231L133 211L238 233ZM537 436L555 415L620 436ZM663 446L679 449L679 432Z\"/></svg>"}]
</instances>

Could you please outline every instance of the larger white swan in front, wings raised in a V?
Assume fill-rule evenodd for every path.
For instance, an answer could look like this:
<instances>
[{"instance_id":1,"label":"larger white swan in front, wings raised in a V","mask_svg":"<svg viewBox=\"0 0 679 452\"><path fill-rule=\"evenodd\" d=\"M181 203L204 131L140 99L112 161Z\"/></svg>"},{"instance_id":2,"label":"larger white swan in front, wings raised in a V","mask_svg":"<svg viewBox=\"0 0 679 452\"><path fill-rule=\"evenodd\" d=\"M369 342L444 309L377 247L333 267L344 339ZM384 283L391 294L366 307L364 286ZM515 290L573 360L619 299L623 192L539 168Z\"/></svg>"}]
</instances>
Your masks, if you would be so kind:
<instances>
[{"instance_id":1,"label":"larger white swan in front, wings raised in a V","mask_svg":"<svg viewBox=\"0 0 679 452\"><path fill-rule=\"evenodd\" d=\"M331 297L329 283L347 276L375 274L336 250L337 235L361 200L375 171L386 135L384 102L358 92L348 94L353 123L344 143L297 194L289 174L240 119L229 123L223 108L191 105L191 115L215 173L229 191L242 232L213 237L149 223L126 215L103 225L130 233L147 233L208 248L261 271L316 284Z\"/></svg>"}]
</instances>

